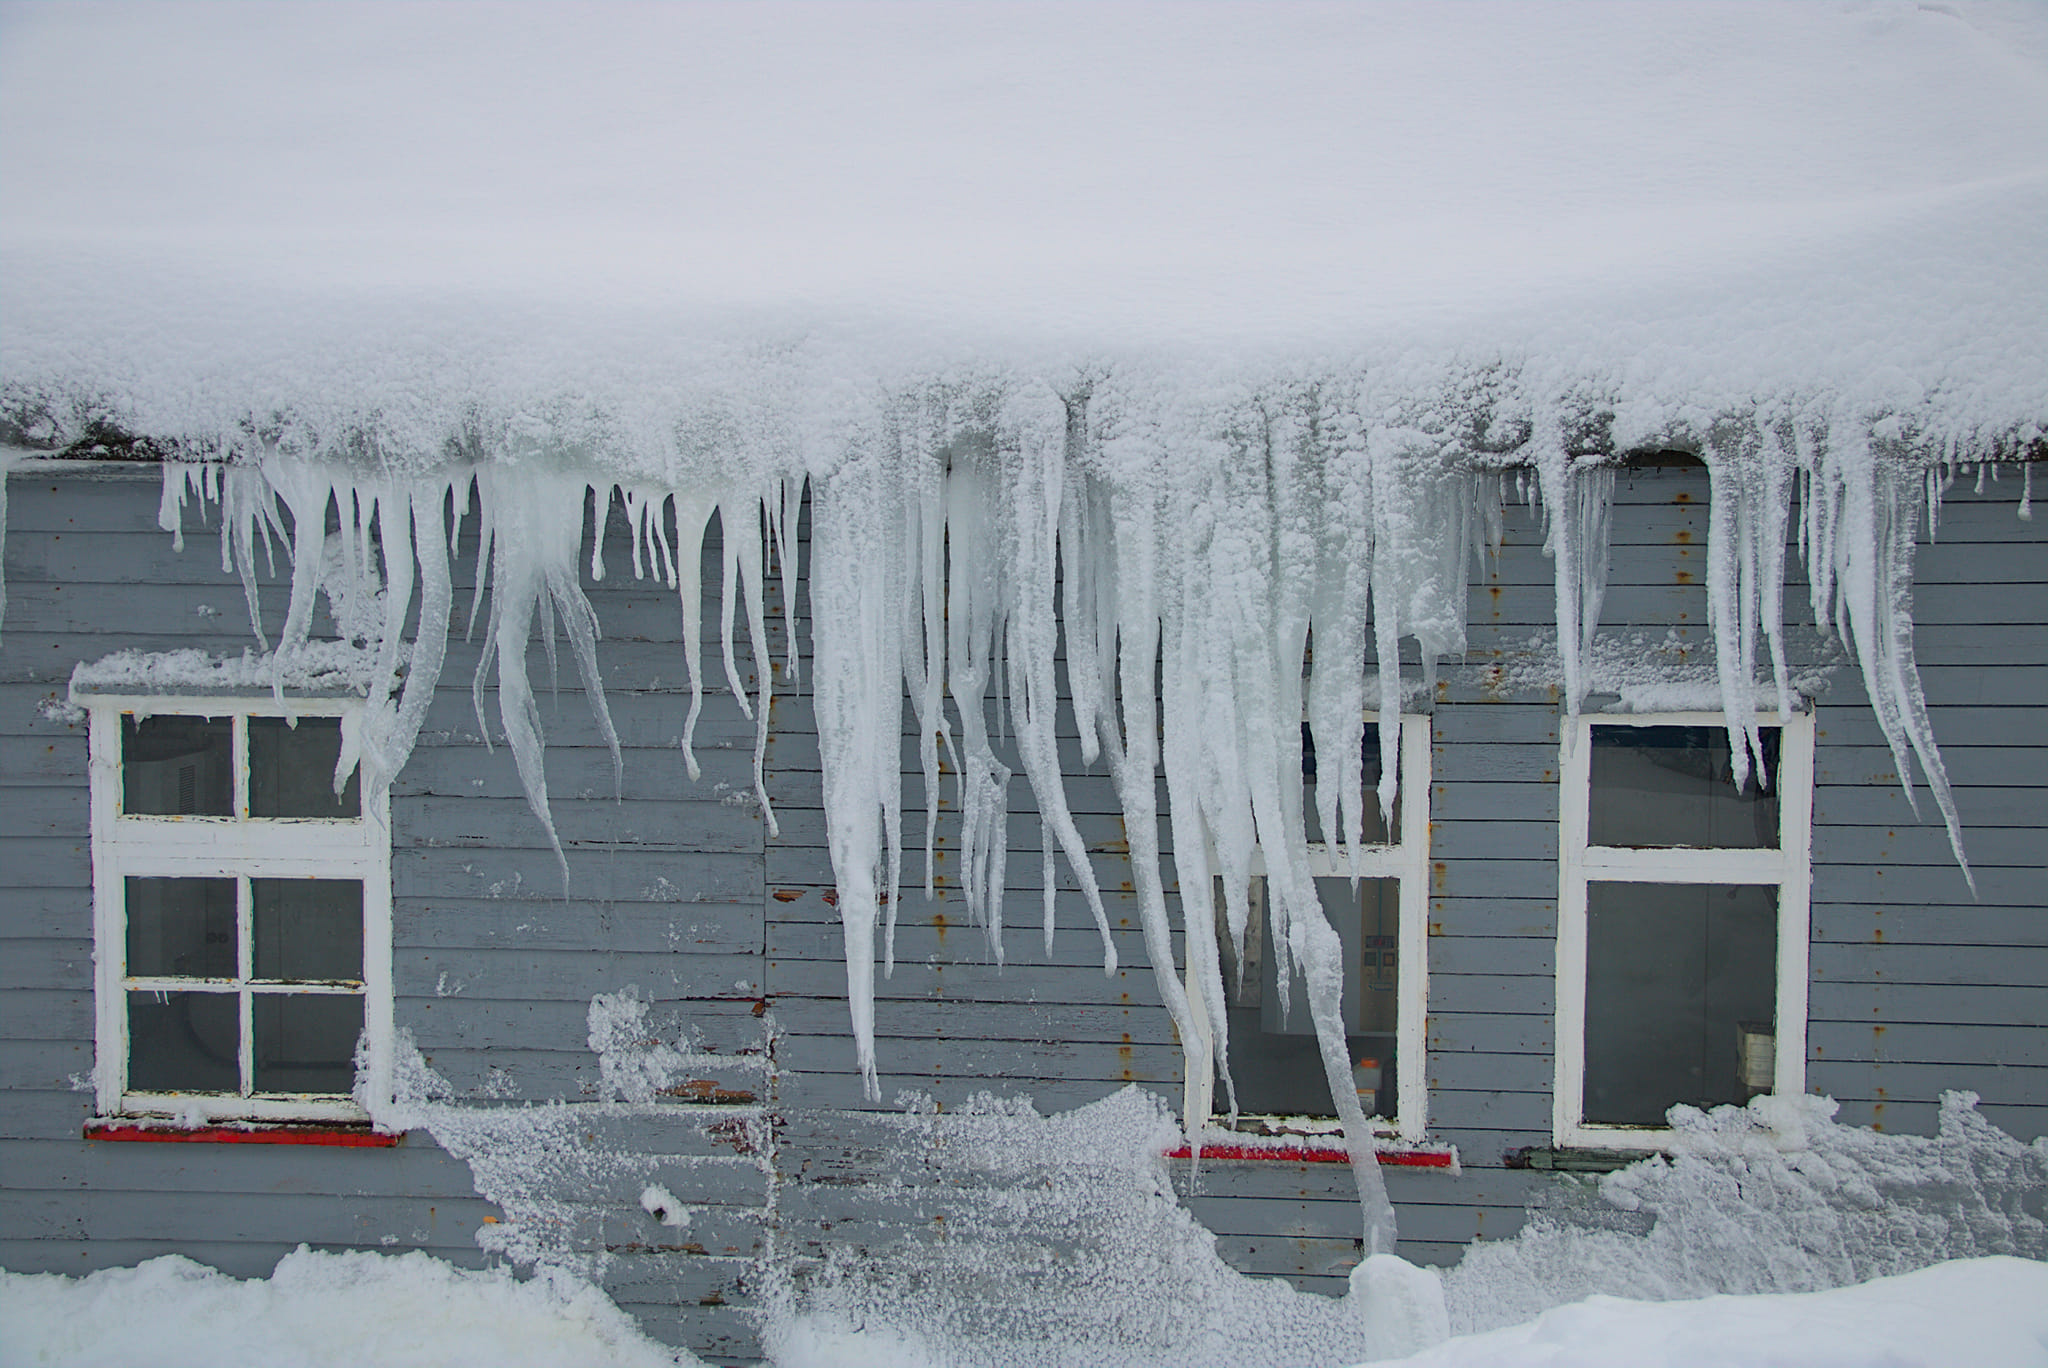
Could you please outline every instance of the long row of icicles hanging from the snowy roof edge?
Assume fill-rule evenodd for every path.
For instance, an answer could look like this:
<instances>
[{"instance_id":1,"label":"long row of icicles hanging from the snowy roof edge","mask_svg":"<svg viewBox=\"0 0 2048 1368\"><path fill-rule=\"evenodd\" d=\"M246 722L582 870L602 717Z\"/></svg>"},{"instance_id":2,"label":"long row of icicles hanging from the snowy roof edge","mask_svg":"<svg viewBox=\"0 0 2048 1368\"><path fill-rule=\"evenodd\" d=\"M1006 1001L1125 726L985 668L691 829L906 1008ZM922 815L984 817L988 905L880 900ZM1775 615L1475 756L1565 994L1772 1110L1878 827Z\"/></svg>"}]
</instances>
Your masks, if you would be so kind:
<instances>
[{"instance_id":1,"label":"long row of icicles hanging from the snowy roof edge","mask_svg":"<svg viewBox=\"0 0 2048 1368\"><path fill-rule=\"evenodd\" d=\"M1790 424L1765 428L1708 446L1704 457L1712 479L1710 616L1729 731L1743 737L1735 745L1739 780L1751 756L1763 754L1759 637L1782 713L1800 707L1786 684L1780 610L1794 543L1806 561L1815 621L1847 637L1898 774L1909 774L1907 754L1915 754L1960 860L1909 616L1915 526L1921 516L1931 524L1937 477L1880 459L1853 424L1835 426L1825 440ZM1368 713L1399 715L1403 680L1393 668L1368 670L1368 661L1397 661L1403 637L1419 645L1425 676L1440 659L1462 655L1468 575L1489 543L1497 545L1503 498L1516 485L1548 516L1563 694L1577 711L1606 582L1614 469L1573 461L1559 422L1534 422L1509 469L1501 457L1460 451L1442 434L1333 414L1313 393L1245 403L1200 432L1122 422L1087 395L1069 395L995 410L905 405L829 461L745 469L727 487L682 483L612 479L567 461L362 475L342 461L272 451L225 465L166 465L162 522L176 532L195 496L219 504L223 567L242 575L258 637L256 557L274 545L289 549L291 610L274 651L281 664L307 643L315 598L340 588L330 584L336 575L356 578L358 588L371 575L381 586L383 633L367 647L379 653L369 709L348 727L342 756L342 772L360 764L375 790L403 768L438 682L455 614L451 549L473 508L471 631L483 586L492 588L475 680L479 723L485 676L496 668L498 721L553 842L526 649L537 618L549 651L557 629L567 635L616 762L598 674L598 618L582 588L586 553L588 573L602 578L604 528L621 524L614 508L631 535L635 575L678 594L690 670L682 750L692 776L690 739L702 702L700 551L711 514L719 514L725 676L760 729L756 793L774 829L760 784L774 676L764 586L772 555L791 610L786 670L795 678L793 543L807 489L809 668L868 1094L877 1096L874 960L881 954L893 967L901 907L905 696L924 768L926 889L944 754L965 827L965 897L1001 958L1012 772L991 741L993 700L1044 827L1044 934L1053 934L1057 852L1094 909L1104 969L1114 973L1108 917L1061 786L1055 715L1065 702L1081 760L1106 764L1120 797L1145 946L1188 1067L1214 1063L1225 1081L1225 983L1210 928L1221 920L1241 942L1253 858L1264 852L1278 981L1290 981L1292 965L1303 969L1368 1241L1391 1247L1393 1208L1370 1161L1370 1126L1346 1055L1339 942L1305 862L1300 721L1315 733L1321 764L1321 829L1360 831L1368 803L1391 811L1401 774L1397 729L1378 729L1384 778L1374 793L1364 788L1362 745ZM332 510L338 535L328 530ZM406 641L414 612L418 629ZM733 655L741 612L760 680L754 698ZM1161 772L1178 897L1161 879ZM1212 889L1225 893L1221 907ZM1188 930L1182 944L1192 993L1174 967L1176 905Z\"/></svg>"}]
</instances>

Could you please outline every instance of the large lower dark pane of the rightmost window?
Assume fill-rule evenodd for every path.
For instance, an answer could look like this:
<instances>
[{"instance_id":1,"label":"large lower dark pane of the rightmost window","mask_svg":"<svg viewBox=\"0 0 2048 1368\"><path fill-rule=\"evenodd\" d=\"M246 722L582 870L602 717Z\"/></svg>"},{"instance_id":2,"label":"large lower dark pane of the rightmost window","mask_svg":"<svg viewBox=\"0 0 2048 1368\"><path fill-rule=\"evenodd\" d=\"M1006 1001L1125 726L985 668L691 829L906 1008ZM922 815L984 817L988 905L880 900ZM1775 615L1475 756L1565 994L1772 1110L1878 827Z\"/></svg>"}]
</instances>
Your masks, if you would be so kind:
<instances>
[{"instance_id":1,"label":"large lower dark pane of the rightmost window","mask_svg":"<svg viewBox=\"0 0 2048 1368\"><path fill-rule=\"evenodd\" d=\"M1585 1120L1769 1092L1778 889L1593 883L1585 913Z\"/></svg>"}]
</instances>

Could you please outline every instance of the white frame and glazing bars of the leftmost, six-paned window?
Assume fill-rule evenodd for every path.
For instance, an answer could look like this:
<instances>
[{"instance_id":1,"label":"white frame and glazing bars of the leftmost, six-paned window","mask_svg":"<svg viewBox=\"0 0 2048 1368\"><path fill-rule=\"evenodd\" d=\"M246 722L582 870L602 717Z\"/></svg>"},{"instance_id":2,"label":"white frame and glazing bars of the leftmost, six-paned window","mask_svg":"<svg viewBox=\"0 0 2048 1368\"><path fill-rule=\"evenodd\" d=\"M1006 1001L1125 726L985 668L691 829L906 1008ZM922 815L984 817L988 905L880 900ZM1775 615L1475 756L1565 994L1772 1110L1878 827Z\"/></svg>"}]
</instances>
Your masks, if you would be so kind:
<instances>
[{"instance_id":1,"label":"white frame and glazing bars of the leftmost, six-paned window","mask_svg":"<svg viewBox=\"0 0 2048 1368\"><path fill-rule=\"evenodd\" d=\"M391 815L389 799L369 797L362 784L360 817L248 817L248 719L250 717L350 717L360 711L352 698L274 696L190 696L190 694L74 694L90 719L90 801L92 801L92 938L94 938L94 1020L96 1020L96 1102L100 1116L178 1116L201 1120L258 1122L362 1122L369 1114L334 1094L215 1094L215 1092L131 1092L127 993L152 987L178 991L176 979L131 979L127 975L127 879L344 879L362 885L362 985L342 989L305 985L293 993L358 993L367 1069L358 1087L367 1096L391 1096L393 1003L391 1003ZM209 717L233 719L233 815L127 815L121 811L121 719ZM238 903L246 903L238 885ZM238 938L250 936L246 905L238 911ZM238 960L248 965L248 944ZM238 975L240 979L240 975ZM242 1001L242 1077L250 1077L250 997Z\"/></svg>"}]
</instances>

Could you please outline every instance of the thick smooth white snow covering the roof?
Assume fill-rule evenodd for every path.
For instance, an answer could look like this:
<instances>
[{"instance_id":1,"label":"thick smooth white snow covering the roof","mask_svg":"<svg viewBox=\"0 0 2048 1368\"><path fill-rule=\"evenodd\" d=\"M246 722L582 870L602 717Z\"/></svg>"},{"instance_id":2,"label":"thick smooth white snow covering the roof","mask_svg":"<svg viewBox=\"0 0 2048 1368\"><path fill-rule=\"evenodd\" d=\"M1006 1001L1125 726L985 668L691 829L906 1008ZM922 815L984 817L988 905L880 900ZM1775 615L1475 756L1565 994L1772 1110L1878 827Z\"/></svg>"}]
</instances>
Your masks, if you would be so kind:
<instances>
[{"instance_id":1,"label":"thick smooth white snow covering the roof","mask_svg":"<svg viewBox=\"0 0 2048 1368\"><path fill-rule=\"evenodd\" d=\"M838 430L961 367L1624 446L2048 422L2021 2L10 4L0 180L39 442L483 414L659 469L707 405Z\"/></svg>"}]
</instances>

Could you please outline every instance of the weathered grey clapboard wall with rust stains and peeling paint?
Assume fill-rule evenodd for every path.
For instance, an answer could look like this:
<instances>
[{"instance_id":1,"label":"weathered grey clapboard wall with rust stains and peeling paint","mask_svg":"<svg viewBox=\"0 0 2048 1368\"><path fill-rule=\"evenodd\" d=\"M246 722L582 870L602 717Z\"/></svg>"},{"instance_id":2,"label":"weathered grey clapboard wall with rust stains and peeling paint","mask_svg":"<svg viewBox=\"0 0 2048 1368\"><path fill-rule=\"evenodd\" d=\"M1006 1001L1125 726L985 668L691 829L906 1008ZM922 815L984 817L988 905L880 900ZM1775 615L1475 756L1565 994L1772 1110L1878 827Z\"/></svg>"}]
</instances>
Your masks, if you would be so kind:
<instances>
[{"instance_id":1,"label":"weathered grey clapboard wall with rust stains and peeling paint","mask_svg":"<svg viewBox=\"0 0 2048 1368\"><path fill-rule=\"evenodd\" d=\"M154 467L16 471L10 496L0 1266L84 1272L180 1251L256 1274L301 1241L481 1262L475 1231L506 1212L420 1132L383 1151L80 1139L92 1110L72 1083L92 1067L86 743L82 725L45 704L63 696L80 659L240 651L248 635L240 586L221 575L211 532L188 526L178 555L156 528ZM1624 473L1618 500L1602 643L1710 661L1704 475ZM2048 1130L2048 537L2040 520L2015 518L2015 504L2013 479L1985 496L1954 489L1939 541L1919 551L1915 590L1917 647L1978 872L1976 901L1931 809L1923 819L1907 809L1855 670L1829 672L1819 700L1808 1085L1837 1096L1851 1122L1925 1132L1939 1092L1970 1087L2015 1135ZM1509 1235L1548 1182L1503 1163L1548 1141L1559 743L1554 688L1542 684L1540 639L1554 621L1542 526L1511 508L1507 532L1501 559L1475 582L1470 655L1446 672L1434 700L1430 1132L1458 1147L1464 1171L1389 1171L1403 1253L1430 1262L1454 1259L1475 1237ZM588 1145L604 1153L567 1165L551 1196L580 1212L573 1241L612 1253L606 1282L651 1331L713 1356L748 1356L756 1255L801 1262L834 1245L913 1237L944 1214L944 1194L877 1200L868 1190L874 1180L920 1178L915 1157L885 1143L887 1126L856 1116L866 1104L846 1030L807 686L776 680L768 790L780 836L768 838L741 797L752 786L752 725L719 690L707 694L698 729L702 778L686 778L676 752L686 707L676 600L633 582L623 547L614 541L610 573L590 592L627 747L627 801L610 797L610 758L573 670L551 698L535 649L571 870L563 899L508 752L477 743L475 647L457 641L420 750L393 788L397 1018L477 1106L596 1098L588 1001L627 985L655 1003L657 1022L731 1055L733 1069L711 1071L707 1087L592 1126ZM469 578L459 567L459 608ZM264 592L274 629L283 594L274 584ZM715 596L707 555L707 608ZM1802 584L1788 586L1786 610L1794 627L1808 623ZM807 627L799 637L807 647ZM1825 655L1810 629L1794 637L1808 664ZM723 678L715 651L707 680ZM752 678L743 645L739 659ZM1063 725L1071 731L1071 719ZM1038 821L1022 778L1010 795L1008 965L995 969L950 877L950 782L940 895L926 901L918 887L924 799L907 719L903 754L905 833L920 848L905 860L897 973L879 981L881 1110L918 1089L942 1108L993 1092L1030 1096L1051 1112L1126 1083L1178 1106L1180 1049L1137 932L1106 776L1075 774L1069 795L1122 969L1102 975L1094 926L1065 870L1059 938L1051 956L1040 948ZM762 1053L772 1069L743 1067ZM637 1208L647 1180L700 1208L688 1231ZM1341 1165L1208 1161L1176 1182L1239 1268L1341 1290L1358 1221Z\"/></svg>"}]
</instances>

